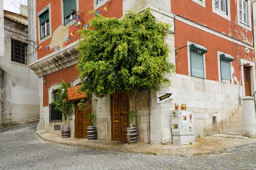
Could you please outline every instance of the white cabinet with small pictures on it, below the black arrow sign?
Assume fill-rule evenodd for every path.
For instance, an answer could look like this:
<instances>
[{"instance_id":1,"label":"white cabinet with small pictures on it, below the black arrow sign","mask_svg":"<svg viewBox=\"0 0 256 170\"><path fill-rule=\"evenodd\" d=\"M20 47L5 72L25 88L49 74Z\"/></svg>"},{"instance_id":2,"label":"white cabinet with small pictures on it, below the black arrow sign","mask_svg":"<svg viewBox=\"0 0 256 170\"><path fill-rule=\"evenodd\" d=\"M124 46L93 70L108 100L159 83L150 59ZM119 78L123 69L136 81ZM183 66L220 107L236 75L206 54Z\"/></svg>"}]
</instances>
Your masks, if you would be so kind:
<instances>
[{"instance_id":1,"label":"white cabinet with small pictures on it, below the black arrow sign","mask_svg":"<svg viewBox=\"0 0 256 170\"><path fill-rule=\"evenodd\" d=\"M172 144L181 146L195 143L194 115L192 111L175 110L172 114Z\"/></svg>"}]
</instances>

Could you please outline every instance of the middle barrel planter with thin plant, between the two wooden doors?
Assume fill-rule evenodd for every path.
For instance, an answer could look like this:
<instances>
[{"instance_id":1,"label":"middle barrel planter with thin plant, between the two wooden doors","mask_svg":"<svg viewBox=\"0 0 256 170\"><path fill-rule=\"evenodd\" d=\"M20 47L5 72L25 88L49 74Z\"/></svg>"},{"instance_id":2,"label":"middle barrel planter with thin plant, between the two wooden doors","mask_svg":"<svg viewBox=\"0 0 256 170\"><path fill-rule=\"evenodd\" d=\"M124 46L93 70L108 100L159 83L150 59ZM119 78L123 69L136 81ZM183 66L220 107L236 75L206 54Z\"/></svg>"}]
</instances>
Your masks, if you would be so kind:
<instances>
[{"instance_id":1,"label":"middle barrel planter with thin plant, between the two wooden doors","mask_svg":"<svg viewBox=\"0 0 256 170\"><path fill-rule=\"evenodd\" d=\"M85 98L81 99L81 102L78 103L79 109L81 109L82 112L90 111L88 113L88 119L90 121L90 126L87 126L86 135L88 140L95 140L96 139L96 128L94 126L94 116L92 109L92 98Z\"/></svg>"}]
</instances>

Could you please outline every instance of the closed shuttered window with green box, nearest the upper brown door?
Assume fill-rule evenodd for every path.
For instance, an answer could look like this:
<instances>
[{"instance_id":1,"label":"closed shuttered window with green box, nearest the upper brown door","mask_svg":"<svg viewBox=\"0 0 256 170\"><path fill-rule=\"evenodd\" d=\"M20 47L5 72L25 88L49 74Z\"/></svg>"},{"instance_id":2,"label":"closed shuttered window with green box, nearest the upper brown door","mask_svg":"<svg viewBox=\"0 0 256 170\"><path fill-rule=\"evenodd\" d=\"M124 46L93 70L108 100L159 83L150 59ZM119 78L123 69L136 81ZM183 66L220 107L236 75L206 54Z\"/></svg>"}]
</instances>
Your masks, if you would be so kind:
<instances>
[{"instance_id":1,"label":"closed shuttered window with green box, nearest the upper brown door","mask_svg":"<svg viewBox=\"0 0 256 170\"><path fill-rule=\"evenodd\" d=\"M231 70L230 62L234 60L234 57L231 57L226 54L220 55L220 64L221 64L221 81L223 79L230 80L231 82Z\"/></svg>"}]
</instances>

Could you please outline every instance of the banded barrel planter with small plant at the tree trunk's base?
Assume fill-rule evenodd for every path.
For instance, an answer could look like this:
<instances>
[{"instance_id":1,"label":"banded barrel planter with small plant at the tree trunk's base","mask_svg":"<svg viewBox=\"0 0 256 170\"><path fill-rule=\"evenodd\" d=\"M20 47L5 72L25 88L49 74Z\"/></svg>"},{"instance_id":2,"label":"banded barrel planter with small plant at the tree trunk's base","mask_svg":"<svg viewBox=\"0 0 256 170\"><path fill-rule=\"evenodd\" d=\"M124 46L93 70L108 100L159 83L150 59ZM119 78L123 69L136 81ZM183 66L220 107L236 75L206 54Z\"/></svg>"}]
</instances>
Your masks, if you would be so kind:
<instances>
[{"instance_id":1,"label":"banded barrel planter with small plant at the tree trunk's base","mask_svg":"<svg viewBox=\"0 0 256 170\"><path fill-rule=\"evenodd\" d=\"M133 125L134 119L136 117L135 111L130 111L129 114L129 127L126 127L126 139L128 144L136 144L137 143L137 129L136 126Z\"/></svg>"}]
</instances>

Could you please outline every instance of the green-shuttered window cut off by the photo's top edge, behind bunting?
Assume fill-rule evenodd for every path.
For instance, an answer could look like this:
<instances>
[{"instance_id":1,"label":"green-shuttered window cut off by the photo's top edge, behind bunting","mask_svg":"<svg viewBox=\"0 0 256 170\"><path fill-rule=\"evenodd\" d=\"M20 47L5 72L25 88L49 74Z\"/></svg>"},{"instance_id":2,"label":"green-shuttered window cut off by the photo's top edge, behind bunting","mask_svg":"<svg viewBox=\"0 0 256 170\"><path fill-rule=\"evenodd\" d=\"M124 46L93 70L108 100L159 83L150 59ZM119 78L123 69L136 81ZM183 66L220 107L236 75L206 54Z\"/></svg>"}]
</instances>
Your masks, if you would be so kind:
<instances>
[{"instance_id":1,"label":"green-shuttered window cut off by the photo's top edge, behind bunting","mask_svg":"<svg viewBox=\"0 0 256 170\"><path fill-rule=\"evenodd\" d=\"M76 10L76 0L63 0L64 24L76 17L72 9Z\"/></svg>"}]
</instances>

